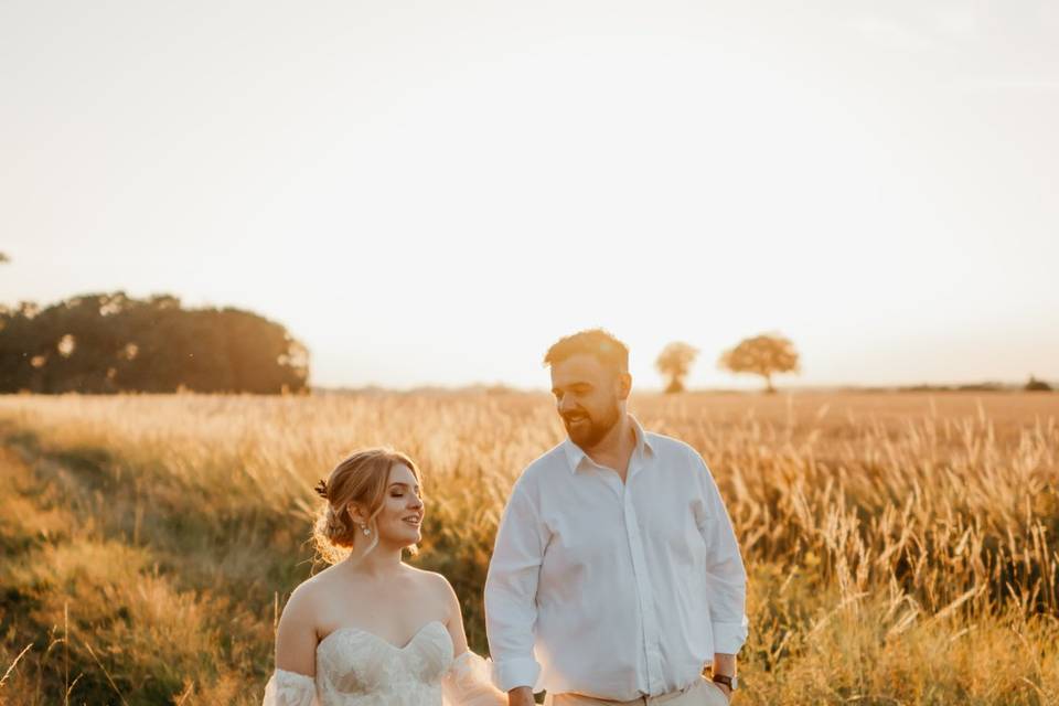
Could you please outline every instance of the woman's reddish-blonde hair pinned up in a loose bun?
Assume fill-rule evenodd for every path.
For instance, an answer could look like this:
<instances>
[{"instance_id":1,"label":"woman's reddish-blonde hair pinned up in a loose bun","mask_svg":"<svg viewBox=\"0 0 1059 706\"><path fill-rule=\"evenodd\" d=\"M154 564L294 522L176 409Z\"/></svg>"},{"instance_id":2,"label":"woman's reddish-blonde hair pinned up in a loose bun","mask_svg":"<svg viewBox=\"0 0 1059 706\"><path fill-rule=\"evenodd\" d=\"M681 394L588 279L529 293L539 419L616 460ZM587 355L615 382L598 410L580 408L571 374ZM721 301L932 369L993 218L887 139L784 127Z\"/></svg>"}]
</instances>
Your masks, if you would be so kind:
<instances>
[{"instance_id":1,"label":"woman's reddish-blonde hair pinned up in a loose bun","mask_svg":"<svg viewBox=\"0 0 1059 706\"><path fill-rule=\"evenodd\" d=\"M328 480L317 486L317 492L325 502L317 514L312 534L317 552L325 561L338 564L347 557L357 533L362 532L347 511L351 503L360 505L367 513L366 526L371 531L372 542L363 554L378 544L375 517L386 501L389 470L397 463L407 466L421 483L419 468L407 454L388 448L371 448L356 451L340 461Z\"/></svg>"}]
</instances>

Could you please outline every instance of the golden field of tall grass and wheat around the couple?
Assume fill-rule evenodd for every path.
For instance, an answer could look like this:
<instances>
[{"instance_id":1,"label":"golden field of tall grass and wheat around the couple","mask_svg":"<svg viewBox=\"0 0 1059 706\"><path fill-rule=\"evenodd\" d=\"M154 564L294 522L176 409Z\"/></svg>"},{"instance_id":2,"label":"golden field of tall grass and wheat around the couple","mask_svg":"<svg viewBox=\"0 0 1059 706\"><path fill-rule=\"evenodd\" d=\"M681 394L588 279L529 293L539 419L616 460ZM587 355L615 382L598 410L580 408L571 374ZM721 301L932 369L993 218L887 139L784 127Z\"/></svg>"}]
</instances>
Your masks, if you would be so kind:
<instances>
[{"instance_id":1,"label":"golden field of tall grass and wheat around the couple","mask_svg":"<svg viewBox=\"0 0 1059 706\"><path fill-rule=\"evenodd\" d=\"M633 396L712 468L750 582L737 704L1059 704L1059 396ZM257 704L319 568L317 479L425 473L416 565L486 651L514 478L563 438L530 393L0 398L0 704Z\"/></svg>"}]
</instances>

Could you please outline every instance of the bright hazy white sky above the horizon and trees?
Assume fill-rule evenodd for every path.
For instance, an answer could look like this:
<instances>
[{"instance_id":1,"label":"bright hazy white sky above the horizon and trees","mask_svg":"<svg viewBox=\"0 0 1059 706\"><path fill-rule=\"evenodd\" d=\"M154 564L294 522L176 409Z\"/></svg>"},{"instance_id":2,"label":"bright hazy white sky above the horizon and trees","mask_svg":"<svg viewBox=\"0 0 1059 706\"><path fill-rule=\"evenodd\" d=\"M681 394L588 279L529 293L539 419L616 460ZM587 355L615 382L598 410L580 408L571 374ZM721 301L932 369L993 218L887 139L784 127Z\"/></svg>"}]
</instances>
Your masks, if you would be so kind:
<instances>
[{"instance_id":1,"label":"bright hazy white sky above the horizon and trees","mask_svg":"<svg viewBox=\"0 0 1059 706\"><path fill-rule=\"evenodd\" d=\"M673 340L738 384L763 331L802 384L1059 378L1057 36L1010 0L0 0L0 301L248 308L321 385L546 387L593 325L640 387Z\"/></svg>"}]
</instances>

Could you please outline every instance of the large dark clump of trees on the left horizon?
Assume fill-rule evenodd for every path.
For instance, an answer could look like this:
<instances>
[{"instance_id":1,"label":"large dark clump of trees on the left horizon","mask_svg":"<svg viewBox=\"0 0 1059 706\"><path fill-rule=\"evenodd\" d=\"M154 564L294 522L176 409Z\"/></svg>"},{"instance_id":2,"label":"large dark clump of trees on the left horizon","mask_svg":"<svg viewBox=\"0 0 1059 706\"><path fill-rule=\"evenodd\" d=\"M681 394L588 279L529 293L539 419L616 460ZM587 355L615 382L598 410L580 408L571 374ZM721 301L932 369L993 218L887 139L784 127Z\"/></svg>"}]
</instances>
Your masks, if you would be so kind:
<instances>
[{"instance_id":1,"label":"large dark clump of trees on the left horizon","mask_svg":"<svg viewBox=\"0 0 1059 706\"><path fill-rule=\"evenodd\" d=\"M308 351L238 309L86 295L0 311L0 392L302 392Z\"/></svg>"}]
</instances>

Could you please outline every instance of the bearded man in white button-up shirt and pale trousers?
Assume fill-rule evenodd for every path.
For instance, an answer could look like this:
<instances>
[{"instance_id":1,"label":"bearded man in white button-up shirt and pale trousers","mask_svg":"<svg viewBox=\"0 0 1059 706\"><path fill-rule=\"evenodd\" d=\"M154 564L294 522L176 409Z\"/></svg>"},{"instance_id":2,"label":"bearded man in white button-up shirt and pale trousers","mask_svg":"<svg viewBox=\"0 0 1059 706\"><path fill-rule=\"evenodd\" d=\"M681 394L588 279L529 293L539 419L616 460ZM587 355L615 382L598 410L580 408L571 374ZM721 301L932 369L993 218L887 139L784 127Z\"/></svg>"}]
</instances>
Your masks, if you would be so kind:
<instances>
[{"instance_id":1,"label":"bearded man in white button-up shirt and pale trousers","mask_svg":"<svg viewBox=\"0 0 1059 706\"><path fill-rule=\"evenodd\" d=\"M531 463L485 580L509 706L723 705L747 638L746 571L695 450L625 411L629 349L581 331L544 357L568 439ZM712 666L712 682L703 678Z\"/></svg>"}]
</instances>

